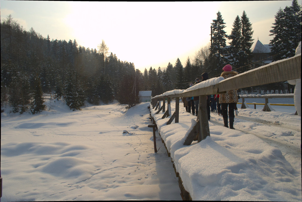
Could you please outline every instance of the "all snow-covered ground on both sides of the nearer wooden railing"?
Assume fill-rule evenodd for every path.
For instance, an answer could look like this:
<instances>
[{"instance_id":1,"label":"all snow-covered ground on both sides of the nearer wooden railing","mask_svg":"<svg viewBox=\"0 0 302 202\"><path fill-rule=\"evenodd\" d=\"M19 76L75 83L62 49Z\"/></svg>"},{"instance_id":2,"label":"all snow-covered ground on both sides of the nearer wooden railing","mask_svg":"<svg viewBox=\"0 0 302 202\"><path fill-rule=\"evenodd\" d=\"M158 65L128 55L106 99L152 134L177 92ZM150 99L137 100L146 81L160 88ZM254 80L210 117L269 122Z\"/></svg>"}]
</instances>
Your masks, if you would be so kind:
<instances>
[{"instance_id":1,"label":"all snow-covered ground on both sides of the nearer wooden railing","mask_svg":"<svg viewBox=\"0 0 302 202\"><path fill-rule=\"evenodd\" d=\"M293 104L293 99L269 101ZM61 100L48 100L50 110L41 114L6 109L1 201L181 200L158 131L154 153L148 105L71 111ZM185 189L193 200L301 201L301 117L290 106L272 106L273 112L237 107L236 130L211 113L210 137L190 146L183 142L196 116L182 103L179 123L165 125L168 118L155 115Z\"/></svg>"}]
</instances>

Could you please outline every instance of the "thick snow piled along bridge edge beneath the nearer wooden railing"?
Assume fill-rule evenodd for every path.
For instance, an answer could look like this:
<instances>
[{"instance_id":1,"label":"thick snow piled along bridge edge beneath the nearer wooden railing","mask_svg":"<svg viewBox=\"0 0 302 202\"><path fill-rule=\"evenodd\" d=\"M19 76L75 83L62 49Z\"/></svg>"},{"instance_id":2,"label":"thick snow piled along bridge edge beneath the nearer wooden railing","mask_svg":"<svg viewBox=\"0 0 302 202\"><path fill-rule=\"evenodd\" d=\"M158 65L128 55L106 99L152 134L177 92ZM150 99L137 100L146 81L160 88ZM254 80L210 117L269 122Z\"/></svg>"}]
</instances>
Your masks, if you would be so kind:
<instances>
[{"instance_id":1,"label":"thick snow piled along bridge edge beneath the nearer wooden railing","mask_svg":"<svg viewBox=\"0 0 302 202\"><path fill-rule=\"evenodd\" d=\"M278 148L211 122L210 137L185 146L196 120L182 111L179 123L166 125L161 116L154 115L159 133L193 200L301 201L301 173Z\"/></svg>"}]
</instances>

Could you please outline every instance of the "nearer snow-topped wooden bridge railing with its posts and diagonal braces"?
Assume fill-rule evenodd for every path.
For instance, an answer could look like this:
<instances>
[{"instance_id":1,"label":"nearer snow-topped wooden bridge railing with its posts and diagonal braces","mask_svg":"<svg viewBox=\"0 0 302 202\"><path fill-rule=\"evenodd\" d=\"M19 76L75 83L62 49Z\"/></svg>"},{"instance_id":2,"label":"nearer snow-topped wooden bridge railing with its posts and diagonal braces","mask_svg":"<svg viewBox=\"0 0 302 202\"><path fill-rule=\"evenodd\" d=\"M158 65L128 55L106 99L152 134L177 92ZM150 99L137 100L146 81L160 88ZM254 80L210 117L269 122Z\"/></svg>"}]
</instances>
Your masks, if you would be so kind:
<instances>
[{"instance_id":1,"label":"nearer snow-topped wooden bridge railing with its posts and diagonal braces","mask_svg":"<svg viewBox=\"0 0 302 202\"><path fill-rule=\"evenodd\" d=\"M192 97L199 96L199 110L197 115L197 123L190 131L187 139L185 140L185 145L190 145L196 134L198 135L198 142L210 136L209 123L207 118L206 101L207 95L211 94L221 94L225 93L227 90L234 90L239 88L253 87L264 84L271 84L280 81L292 80L301 78L301 54L296 55L292 58L279 60L272 62L268 65L255 68L250 71L246 71L242 74L220 80L217 79L217 83L206 85L209 80L203 81L200 86L196 89L196 86L190 87L186 90L174 90L168 91L161 95L154 96L151 101L153 109L158 109L156 114L160 111L164 113L162 118L170 117L168 124L171 124L175 119L175 123L179 122L179 98L180 97ZM214 78L211 79L212 81ZM204 85L204 86L203 86ZM167 111L165 111L165 99L167 98ZM171 98L175 98L175 112L171 114ZM272 98L272 97L268 97ZM162 101L162 106L160 107L160 102ZM244 103L244 102L243 102ZM152 119L152 117L150 117ZM153 119L153 123L154 122Z\"/></svg>"}]
</instances>

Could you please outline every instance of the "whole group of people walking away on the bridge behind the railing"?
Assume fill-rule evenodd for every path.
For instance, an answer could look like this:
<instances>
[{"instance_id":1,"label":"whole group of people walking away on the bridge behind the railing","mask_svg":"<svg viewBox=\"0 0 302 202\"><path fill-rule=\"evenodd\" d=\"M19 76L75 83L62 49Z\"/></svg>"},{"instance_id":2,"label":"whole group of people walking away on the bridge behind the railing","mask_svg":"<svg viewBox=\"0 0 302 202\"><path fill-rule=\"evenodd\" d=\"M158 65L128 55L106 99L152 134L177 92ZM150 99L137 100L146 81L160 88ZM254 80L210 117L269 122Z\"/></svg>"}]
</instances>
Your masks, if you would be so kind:
<instances>
[{"instance_id":1,"label":"whole group of people walking away on the bridge behind the railing","mask_svg":"<svg viewBox=\"0 0 302 202\"><path fill-rule=\"evenodd\" d=\"M220 76L224 77L224 79L236 76L238 74L238 72L232 71L231 65L225 65L222 68L222 70L223 70L223 72L221 73ZM200 78L195 79L195 84L198 84L201 81L205 81L207 79L209 79L209 76L205 72L205 73L201 74L201 79ZM195 84L191 83L190 87ZM186 112L191 113L191 109L192 109L192 115L196 115L196 116L198 115L199 96L182 98L182 102L184 103ZM223 94L207 95L208 120L210 121L210 112L217 111L218 115L221 114L223 117L224 126L226 128L229 128L229 126L228 126L228 123L229 123L230 128L235 129L233 127L233 125L234 125L234 118L235 118L234 112L236 112L236 115L238 113L237 107L236 107L237 102L238 102L237 90L227 90L226 93L223 93ZM217 105L216 105L216 103L217 103ZM211 106L211 109L210 109L210 106Z\"/></svg>"}]
</instances>

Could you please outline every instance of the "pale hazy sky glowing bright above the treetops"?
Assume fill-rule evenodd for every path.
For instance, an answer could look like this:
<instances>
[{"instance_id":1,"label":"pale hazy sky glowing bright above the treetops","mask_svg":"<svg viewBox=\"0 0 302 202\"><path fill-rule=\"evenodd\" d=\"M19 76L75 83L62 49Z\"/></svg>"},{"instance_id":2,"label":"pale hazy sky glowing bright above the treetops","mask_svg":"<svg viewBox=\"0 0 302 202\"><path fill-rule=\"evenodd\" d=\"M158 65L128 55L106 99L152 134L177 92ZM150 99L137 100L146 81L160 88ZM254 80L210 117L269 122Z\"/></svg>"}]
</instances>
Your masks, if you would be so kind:
<instances>
[{"instance_id":1,"label":"pale hazy sky glowing bright above the treetops","mask_svg":"<svg viewBox=\"0 0 302 202\"><path fill-rule=\"evenodd\" d=\"M302 0L298 3L301 5ZM237 15L246 11L254 42L268 44L275 14L292 1L233 2L72 2L0 0L1 22L11 14L29 31L97 49L102 39L121 61L144 71L162 69L179 58L185 67L210 43L210 26L220 11L231 33ZM227 44L228 45L228 44Z\"/></svg>"}]
</instances>

